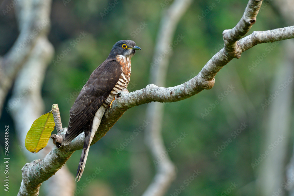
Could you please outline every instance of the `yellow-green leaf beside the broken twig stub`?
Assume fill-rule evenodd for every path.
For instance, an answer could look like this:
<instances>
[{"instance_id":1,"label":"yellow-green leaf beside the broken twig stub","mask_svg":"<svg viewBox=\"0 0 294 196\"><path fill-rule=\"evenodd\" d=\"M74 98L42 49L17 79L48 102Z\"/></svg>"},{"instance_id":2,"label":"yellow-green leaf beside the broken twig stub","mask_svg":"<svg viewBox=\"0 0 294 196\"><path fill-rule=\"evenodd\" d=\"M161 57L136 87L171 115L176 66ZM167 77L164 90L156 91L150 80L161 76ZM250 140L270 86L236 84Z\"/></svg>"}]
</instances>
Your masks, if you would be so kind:
<instances>
[{"instance_id":1,"label":"yellow-green leaf beside the broken twig stub","mask_svg":"<svg viewBox=\"0 0 294 196\"><path fill-rule=\"evenodd\" d=\"M54 130L55 123L53 119L52 110L46 114L41 115L34 121L30 130L26 134L25 146L32 153L37 153L43 149Z\"/></svg>"}]
</instances>

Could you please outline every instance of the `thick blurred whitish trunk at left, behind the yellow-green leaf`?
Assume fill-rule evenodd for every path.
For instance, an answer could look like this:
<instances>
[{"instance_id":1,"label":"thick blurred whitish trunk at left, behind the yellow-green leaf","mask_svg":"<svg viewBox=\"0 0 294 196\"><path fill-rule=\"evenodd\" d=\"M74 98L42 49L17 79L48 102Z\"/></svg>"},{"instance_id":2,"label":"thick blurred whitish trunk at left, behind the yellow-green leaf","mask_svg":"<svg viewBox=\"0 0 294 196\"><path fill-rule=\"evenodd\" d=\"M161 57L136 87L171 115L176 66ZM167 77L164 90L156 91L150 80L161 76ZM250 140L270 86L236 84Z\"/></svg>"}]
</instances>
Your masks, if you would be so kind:
<instances>
[{"instance_id":1,"label":"thick blurred whitish trunk at left, behind the yellow-green leaf","mask_svg":"<svg viewBox=\"0 0 294 196\"><path fill-rule=\"evenodd\" d=\"M6 86L1 88L3 90L1 91L1 98L5 97L5 91L7 92L9 84L13 83L15 75L12 97L4 113L9 113L12 116L16 135L19 137L21 144L19 149L29 161L32 161L44 157L53 147L52 142L49 142L49 145L40 153L33 154L26 150L24 146L27 131L31 128L34 120L44 113L41 88L47 66L54 53L54 48L47 39L50 29L51 0L20 1L15 4L15 9L21 33L1 64L4 71L11 73L9 77L4 78ZM31 23L35 24L33 25L34 28L29 28ZM9 71L13 66L8 65L14 63L18 66L13 65L15 66L14 70ZM44 191L42 195L72 195L75 189L74 178L66 167L44 183L47 184L45 187L54 187L54 189Z\"/></svg>"}]
</instances>

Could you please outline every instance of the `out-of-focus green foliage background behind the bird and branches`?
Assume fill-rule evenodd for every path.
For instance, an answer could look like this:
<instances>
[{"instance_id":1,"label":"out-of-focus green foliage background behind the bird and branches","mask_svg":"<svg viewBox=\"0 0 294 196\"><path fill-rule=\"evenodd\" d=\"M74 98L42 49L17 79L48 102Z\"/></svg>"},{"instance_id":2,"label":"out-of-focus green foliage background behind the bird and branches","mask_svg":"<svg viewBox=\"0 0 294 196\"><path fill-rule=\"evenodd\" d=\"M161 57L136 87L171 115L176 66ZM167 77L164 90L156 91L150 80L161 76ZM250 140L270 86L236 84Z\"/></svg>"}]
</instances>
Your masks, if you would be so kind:
<instances>
[{"instance_id":1,"label":"out-of-focus green foliage background behind the bird and branches","mask_svg":"<svg viewBox=\"0 0 294 196\"><path fill-rule=\"evenodd\" d=\"M178 35L183 35L184 38L173 48L166 86L176 86L197 75L223 46L223 30L235 26L242 17L247 2L193 1L175 32L175 38ZM64 127L68 125L69 109L81 87L92 71L107 58L116 41L129 38L142 48L132 58L129 91L144 88L149 83L148 75L158 26L167 6L161 7L163 0L119 0L102 18L101 12L105 11L104 8L107 9L109 3L112 4L113 1L69 1L64 4L63 1L54 0L52 3L49 40L55 47L54 60L61 60L50 64L42 96L46 111L50 111L54 103L59 105ZM212 3L216 3L216 6L200 21L198 16ZM141 23L147 24L146 27L140 29ZM257 22L249 33L283 26L277 13L268 5L260 10ZM8 35L7 29L13 33ZM13 43L11 39L15 40L16 32L13 13L7 17L2 16L2 55ZM81 32L86 35L77 44L74 43L74 40L78 41ZM254 195L258 167L253 170L250 164L262 152L260 147L263 144L264 125L267 123L264 121L267 108L263 110L260 104L272 93L270 87L273 76L283 58L283 43L275 45L268 53L266 48L271 45L272 43L260 44L244 52L240 59L233 59L218 73L213 89L180 102L165 104L162 134L166 147L172 149L169 155L177 167L177 178L166 195L176 195L176 189L182 185L185 189L181 195L221 195L231 183L238 186L230 195ZM70 51L63 55L67 48ZM266 53L266 57L250 71L248 66L252 66L262 53ZM225 94L229 85L235 88L222 96L221 93ZM219 104L202 118L201 113L205 113L216 100ZM144 120L148 121L145 110L146 105L129 109L106 136L91 146L83 177L76 184L76 195L141 195L146 190L155 174L155 166L144 145L144 130L138 135L133 132L143 125ZM7 122L13 127L9 116L5 115L5 111L3 113L1 127ZM241 123L248 126L233 139L231 133L240 128ZM9 195L16 195L21 183L21 168L29 160L22 154L25 149L19 149L13 128L10 133L13 141L10 160L13 171L10 180L13 183L10 183ZM173 141L177 141L181 133L188 136L175 146ZM135 139L121 152L117 152L116 148L120 148L131 135ZM228 138L232 142L215 156L213 151ZM79 151L74 153L66 163L73 174L76 173L80 155ZM89 178L96 167L102 171L93 179ZM193 175L194 170L201 173L186 186L185 180ZM126 191L133 180L137 179L140 183L131 192ZM44 190L44 187L41 189ZM3 194L1 189L0 195Z\"/></svg>"}]
</instances>

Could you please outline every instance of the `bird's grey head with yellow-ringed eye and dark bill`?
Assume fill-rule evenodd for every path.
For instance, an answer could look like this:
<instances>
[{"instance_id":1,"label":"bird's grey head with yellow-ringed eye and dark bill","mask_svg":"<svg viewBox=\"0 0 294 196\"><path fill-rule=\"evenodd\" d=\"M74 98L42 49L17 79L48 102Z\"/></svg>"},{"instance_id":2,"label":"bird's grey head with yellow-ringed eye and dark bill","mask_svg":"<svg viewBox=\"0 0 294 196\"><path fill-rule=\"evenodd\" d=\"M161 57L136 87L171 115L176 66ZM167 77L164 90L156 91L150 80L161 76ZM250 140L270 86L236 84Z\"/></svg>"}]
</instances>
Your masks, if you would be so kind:
<instances>
[{"instance_id":1,"label":"bird's grey head with yellow-ringed eye and dark bill","mask_svg":"<svg viewBox=\"0 0 294 196\"><path fill-rule=\"evenodd\" d=\"M123 55L131 58L135 55L136 50L141 50L136 43L132 40L121 40L114 44L109 56L116 57L117 55Z\"/></svg>"}]
</instances>

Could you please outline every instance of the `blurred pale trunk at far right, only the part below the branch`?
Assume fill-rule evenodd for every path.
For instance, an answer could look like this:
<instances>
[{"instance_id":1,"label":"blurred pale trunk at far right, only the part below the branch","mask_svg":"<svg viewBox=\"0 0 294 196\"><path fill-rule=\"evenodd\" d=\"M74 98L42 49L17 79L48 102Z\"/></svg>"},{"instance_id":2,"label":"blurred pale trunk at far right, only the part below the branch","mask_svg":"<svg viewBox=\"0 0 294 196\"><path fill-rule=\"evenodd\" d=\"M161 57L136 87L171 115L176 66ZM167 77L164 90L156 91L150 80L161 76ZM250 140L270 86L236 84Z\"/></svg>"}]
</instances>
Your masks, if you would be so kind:
<instances>
[{"instance_id":1,"label":"blurred pale trunk at far right, only the part below the branch","mask_svg":"<svg viewBox=\"0 0 294 196\"><path fill-rule=\"evenodd\" d=\"M285 189L281 186L285 176L285 159L288 155L288 141L291 134L291 112L293 103L293 86L294 82L287 82L294 72L294 42L291 40L284 44L285 58L277 66L275 80L272 84L270 93L266 99L270 102L265 110L268 110L268 116L264 119L265 140L264 148L260 150L261 154L268 150L269 154L260 163L258 183L261 195L271 195L282 189L280 195L285 194ZM285 88L281 84L288 84ZM278 87L283 88L283 91ZM275 94L278 92L279 94ZM272 95L272 96L271 96ZM283 138L278 139L278 138ZM281 142L280 142L281 141Z\"/></svg>"}]
</instances>

